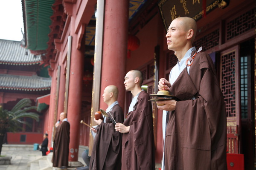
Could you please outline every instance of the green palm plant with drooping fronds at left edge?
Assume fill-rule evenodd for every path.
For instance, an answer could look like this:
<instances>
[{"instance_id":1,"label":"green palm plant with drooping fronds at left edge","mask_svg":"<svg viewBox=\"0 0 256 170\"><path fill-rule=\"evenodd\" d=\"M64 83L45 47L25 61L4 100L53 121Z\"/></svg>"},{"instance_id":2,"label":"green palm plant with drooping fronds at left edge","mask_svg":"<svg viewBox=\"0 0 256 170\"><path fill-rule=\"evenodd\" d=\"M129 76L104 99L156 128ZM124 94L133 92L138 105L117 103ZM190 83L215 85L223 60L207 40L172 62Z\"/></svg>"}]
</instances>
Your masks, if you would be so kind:
<instances>
[{"instance_id":1,"label":"green palm plant with drooping fronds at left edge","mask_svg":"<svg viewBox=\"0 0 256 170\"><path fill-rule=\"evenodd\" d=\"M23 117L29 117L39 121L38 113L27 112L33 109L37 109L36 106L31 106L30 99L21 99L12 108L11 111L3 109L0 106L0 155L2 151L3 139L7 132L17 132L21 129L20 124L29 125L27 122L22 120Z\"/></svg>"}]
</instances>

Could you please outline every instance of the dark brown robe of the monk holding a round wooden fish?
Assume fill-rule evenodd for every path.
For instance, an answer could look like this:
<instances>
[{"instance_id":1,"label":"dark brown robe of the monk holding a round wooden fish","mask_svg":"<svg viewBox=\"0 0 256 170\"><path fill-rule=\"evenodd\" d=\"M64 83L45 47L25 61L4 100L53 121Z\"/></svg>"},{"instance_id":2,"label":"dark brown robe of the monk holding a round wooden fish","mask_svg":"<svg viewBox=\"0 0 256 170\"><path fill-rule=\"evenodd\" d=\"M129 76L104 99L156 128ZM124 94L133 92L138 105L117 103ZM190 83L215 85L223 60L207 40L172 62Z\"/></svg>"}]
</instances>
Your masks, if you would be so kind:
<instances>
[{"instance_id":1,"label":"dark brown robe of the monk holding a round wooden fish","mask_svg":"<svg viewBox=\"0 0 256 170\"><path fill-rule=\"evenodd\" d=\"M114 105L110 111L117 122L124 122L124 113L119 105ZM107 113L110 118L111 115ZM122 133L115 130L110 119L99 125L98 133L93 142L90 159L90 170L120 170L122 156Z\"/></svg>"}]
</instances>

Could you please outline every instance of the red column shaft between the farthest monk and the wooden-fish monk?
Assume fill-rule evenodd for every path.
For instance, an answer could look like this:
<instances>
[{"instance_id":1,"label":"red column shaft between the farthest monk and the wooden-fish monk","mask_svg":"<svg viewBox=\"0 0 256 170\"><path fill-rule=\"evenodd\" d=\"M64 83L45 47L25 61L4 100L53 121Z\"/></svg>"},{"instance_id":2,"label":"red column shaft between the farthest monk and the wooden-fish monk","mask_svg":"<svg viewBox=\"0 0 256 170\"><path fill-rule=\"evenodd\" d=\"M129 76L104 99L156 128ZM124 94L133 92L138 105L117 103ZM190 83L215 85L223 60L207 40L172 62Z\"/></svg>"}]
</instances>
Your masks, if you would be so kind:
<instances>
[{"instance_id":1,"label":"red column shaft between the farthest monk and the wooden-fish monk","mask_svg":"<svg viewBox=\"0 0 256 170\"><path fill-rule=\"evenodd\" d=\"M70 80L68 92L67 119L70 122L69 161L78 161L79 130L81 121L82 75L84 70L85 40L81 40L81 48L77 49L79 36L75 33L76 17L71 18L70 35L72 36Z\"/></svg>"}]
</instances>

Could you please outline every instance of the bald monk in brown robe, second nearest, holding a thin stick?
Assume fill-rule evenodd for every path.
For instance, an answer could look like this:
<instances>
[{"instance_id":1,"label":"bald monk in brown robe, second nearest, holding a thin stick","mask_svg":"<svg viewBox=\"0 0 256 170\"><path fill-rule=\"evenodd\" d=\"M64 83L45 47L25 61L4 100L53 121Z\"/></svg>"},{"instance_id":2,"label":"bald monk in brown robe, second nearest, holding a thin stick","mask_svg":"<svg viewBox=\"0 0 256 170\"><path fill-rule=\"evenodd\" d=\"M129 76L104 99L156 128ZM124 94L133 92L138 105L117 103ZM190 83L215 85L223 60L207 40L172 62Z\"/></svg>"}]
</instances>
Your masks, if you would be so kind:
<instances>
[{"instance_id":1,"label":"bald monk in brown robe, second nearest, holding a thin stick","mask_svg":"<svg viewBox=\"0 0 256 170\"><path fill-rule=\"evenodd\" d=\"M115 128L123 133L122 170L155 170L152 106L149 95L141 89L142 83L140 71L132 70L125 75L125 89L134 98L127 119Z\"/></svg>"}]
</instances>

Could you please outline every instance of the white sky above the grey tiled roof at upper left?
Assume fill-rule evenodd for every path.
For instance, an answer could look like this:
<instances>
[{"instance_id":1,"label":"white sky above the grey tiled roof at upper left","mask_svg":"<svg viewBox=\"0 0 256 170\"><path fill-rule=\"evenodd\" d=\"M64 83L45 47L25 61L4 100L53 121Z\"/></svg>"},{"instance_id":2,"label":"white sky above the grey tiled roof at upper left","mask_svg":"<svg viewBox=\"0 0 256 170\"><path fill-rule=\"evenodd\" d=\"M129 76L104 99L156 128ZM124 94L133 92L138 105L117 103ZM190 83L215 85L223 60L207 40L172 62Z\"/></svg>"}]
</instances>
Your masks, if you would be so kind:
<instances>
[{"instance_id":1,"label":"white sky above the grey tiled roof at upper left","mask_svg":"<svg viewBox=\"0 0 256 170\"><path fill-rule=\"evenodd\" d=\"M0 0L0 39L21 41L24 32L21 0Z\"/></svg>"}]
</instances>

